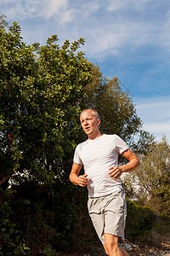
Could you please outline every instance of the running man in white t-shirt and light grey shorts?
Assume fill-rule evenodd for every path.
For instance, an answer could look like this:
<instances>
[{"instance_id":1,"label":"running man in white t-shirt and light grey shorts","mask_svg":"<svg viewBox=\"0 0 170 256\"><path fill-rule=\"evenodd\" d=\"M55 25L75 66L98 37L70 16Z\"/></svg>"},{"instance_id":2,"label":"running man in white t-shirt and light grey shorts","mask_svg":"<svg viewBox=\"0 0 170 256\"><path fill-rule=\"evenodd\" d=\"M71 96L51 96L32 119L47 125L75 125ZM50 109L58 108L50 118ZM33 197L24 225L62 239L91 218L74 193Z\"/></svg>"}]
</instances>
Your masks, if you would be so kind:
<instances>
[{"instance_id":1,"label":"running man in white t-shirt and light grey shorts","mask_svg":"<svg viewBox=\"0 0 170 256\"><path fill-rule=\"evenodd\" d=\"M126 256L128 253L118 247L126 220L126 200L119 177L136 169L139 160L120 137L101 134L99 114L94 109L83 110L80 121L88 140L75 150L71 183L88 186L88 212L106 254ZM118 154L128 160L126 165L118 166ZM79 175L82 165L85 173Z\"/></svg>"}]
</instances>

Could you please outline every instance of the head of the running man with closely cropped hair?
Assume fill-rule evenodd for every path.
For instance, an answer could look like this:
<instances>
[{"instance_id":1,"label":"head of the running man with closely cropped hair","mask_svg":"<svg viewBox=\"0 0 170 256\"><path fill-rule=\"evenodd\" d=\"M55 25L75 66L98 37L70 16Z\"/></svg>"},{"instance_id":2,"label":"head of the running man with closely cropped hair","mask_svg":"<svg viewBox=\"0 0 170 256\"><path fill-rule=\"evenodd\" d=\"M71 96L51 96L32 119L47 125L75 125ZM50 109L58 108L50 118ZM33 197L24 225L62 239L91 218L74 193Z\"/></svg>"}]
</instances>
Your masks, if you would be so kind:
<instances>
[{"instance_id":1,"label":"head of the running man with closely cropped hair","mask_svg":"<svg viewBox=\"0 0 170 256\"><path fill-rule=\"evenodd\" d=\"M83 111L80 115L80 121L83 131L88 136L99 132L100 119L96 119L91 110Z\"/></svg>"}]
</instances>

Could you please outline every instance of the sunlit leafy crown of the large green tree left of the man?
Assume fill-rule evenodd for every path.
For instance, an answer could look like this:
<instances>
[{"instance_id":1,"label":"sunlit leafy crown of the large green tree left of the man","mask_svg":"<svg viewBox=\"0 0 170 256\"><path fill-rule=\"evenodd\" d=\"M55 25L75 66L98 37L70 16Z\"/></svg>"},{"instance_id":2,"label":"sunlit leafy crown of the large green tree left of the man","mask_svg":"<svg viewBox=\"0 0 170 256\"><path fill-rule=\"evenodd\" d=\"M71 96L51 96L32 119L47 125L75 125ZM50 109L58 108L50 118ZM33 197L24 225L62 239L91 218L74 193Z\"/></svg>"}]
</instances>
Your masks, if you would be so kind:
<instances>
[{"instance_id":1,"label":"sunlit leafy crown of the large green tree left of the man","mask_svg":"<svg viewBox=\"0 0 170 256\"><path fill-rule=\"evenodd\" d=\"M91 63L77 52L82 38L61 47L57 42L54 35L44 46L26 45L16 22L0 31L2 182L15 171L48 182L75 148Z\"/></svg>"}]
</instances>

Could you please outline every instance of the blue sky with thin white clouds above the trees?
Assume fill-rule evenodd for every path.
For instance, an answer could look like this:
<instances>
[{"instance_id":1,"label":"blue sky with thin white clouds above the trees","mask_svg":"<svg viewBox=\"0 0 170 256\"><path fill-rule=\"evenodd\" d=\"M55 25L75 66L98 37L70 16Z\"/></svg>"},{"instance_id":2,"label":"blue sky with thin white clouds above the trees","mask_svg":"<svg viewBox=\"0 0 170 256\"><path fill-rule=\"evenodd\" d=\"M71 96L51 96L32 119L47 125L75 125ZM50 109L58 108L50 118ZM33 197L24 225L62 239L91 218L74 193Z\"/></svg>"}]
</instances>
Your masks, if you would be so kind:
<instances>
[{"instance_id":1,"label":"blue sky with thin white clouds above the trees","mask_svg":"<svg viewBox=\"0 0 170 256\"><path fill-rule=\"evenodd\" d=\"M9 25L20 21L27 44L85 38L88 61L118 77L144 130L170 142L170 1L1 0L0 12Z\"/></svg>"}]
</instances>

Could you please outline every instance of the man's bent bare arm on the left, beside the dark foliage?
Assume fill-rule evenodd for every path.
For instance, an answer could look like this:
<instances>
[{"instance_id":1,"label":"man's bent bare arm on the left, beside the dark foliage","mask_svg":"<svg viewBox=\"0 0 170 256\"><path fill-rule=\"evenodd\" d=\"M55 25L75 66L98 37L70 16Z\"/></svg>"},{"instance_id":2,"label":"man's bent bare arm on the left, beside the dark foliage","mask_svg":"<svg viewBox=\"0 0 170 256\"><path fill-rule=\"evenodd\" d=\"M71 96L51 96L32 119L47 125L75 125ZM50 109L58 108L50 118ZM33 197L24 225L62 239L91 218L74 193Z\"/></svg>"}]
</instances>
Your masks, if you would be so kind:
<instances>
[{"instance_id":1,"label":"man's bent bare arm on the left, beside the dark foliage","mask_svg":"<svg viewBox=\"0 0 170 256\"><path fill-rule=\"evenodd\" d=\"M88 174L83 174L78 176L81 169L82 169L82 165L78 165L75 162L73 162L71 174L70 174L70 181L75 185L85 187L88 183L88 177L87 177Z\"/></svg>"}]
</instances>

